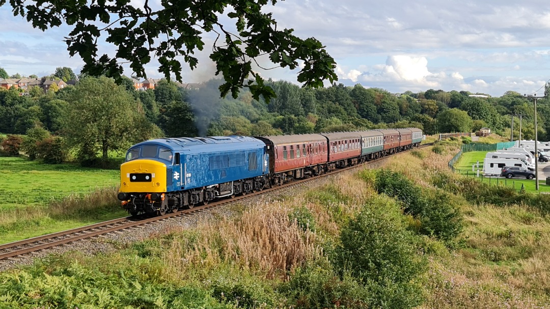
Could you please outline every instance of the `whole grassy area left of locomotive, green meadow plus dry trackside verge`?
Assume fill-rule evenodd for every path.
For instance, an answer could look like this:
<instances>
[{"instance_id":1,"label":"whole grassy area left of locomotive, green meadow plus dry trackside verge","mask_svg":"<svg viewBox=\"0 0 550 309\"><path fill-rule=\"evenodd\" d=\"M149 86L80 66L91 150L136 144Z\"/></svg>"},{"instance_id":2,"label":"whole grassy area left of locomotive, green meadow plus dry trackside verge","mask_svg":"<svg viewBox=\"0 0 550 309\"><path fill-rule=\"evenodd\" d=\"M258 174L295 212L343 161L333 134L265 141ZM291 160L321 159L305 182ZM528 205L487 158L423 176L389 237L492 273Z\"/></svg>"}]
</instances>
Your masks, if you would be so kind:
<instances>
[{"instance_id":1,"label":"whole grassy area left of locomotive, green meadow plus dry trackside verge","mask_svg":"<svg viewBox=\"0 0 550 309\"><path fill-rule=\"evenodd\" d=\"M125 216L116 170L0 158L0 243Z\"/></svg>"}]
</instances>

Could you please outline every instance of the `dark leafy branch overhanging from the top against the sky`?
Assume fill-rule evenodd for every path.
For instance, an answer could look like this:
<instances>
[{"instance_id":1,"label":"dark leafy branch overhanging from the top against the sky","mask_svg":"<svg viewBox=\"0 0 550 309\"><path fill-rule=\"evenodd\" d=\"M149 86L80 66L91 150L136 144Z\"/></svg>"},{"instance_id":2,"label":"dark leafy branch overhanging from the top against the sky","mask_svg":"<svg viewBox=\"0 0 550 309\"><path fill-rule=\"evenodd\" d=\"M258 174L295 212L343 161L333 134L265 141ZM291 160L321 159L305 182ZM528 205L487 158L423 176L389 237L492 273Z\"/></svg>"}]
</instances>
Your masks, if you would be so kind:
<instances>
[{"instance_id":1,"label":"dark leafy branch overhanging from the top against the sky","mask_svg":"<svg viewBox=\"0 0 550 309\"><path fill-rule=\"evenodd\" d=\"M276 4L272 0L271 4ZM0 6L6 0L0 0ZM337 80L334 59L315 38L305 40L293 35L293 29L278 29L271 13L264 13L265 0L222 0L212 2L159 2L150 7L135 7L128 1L92 2L83 5L77 0L30 1L10 0L15 16L26 16L32 26L45 31L62 24L72 26L65 37L69 54L84 60L82 71L92 76L119 78L123 62L130 63L138 77L146 77L144 65L152 56L160 63L159 71L167 78L172 74L182 80L182 63L195 69L197 50L205 48L206 33L217 36L210 58L216 63L216 75L222 74L222 95L249 87L255 99L260 95L273 97L271 88L253 69L255 58L268 54L282 68L303 68L298 82L305 86L322 87L323 80ZM224 12L234 21L235 33L222 24ZM98 38L116 46L114 55L98 54ZM103 39L102 39L103 40ZM249 80L249 78L251 80Z\"/></svg>"}]
</instances>

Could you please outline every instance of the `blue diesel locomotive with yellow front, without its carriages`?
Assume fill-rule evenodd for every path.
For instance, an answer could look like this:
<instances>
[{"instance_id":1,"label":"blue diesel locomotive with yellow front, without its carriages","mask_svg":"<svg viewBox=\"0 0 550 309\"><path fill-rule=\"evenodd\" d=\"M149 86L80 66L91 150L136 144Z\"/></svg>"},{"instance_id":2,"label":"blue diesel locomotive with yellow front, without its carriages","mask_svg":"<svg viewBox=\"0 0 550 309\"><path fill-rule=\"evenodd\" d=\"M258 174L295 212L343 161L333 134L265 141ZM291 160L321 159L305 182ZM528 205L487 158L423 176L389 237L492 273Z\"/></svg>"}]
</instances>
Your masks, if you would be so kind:
<instances>
[{"instance_id":1,"label":"blue diesel locomotive with yellow front, without its carriages","mask_svg":"<svg viewBox=\"0 0 550 309\"><path fill-rule=\"evenodd\" d=\"M130 214L176 211L266 186L269 157L244 136L161 138L128 150L118 198Z\"/></svg>"}]
</instances>

